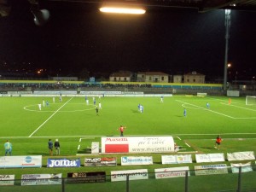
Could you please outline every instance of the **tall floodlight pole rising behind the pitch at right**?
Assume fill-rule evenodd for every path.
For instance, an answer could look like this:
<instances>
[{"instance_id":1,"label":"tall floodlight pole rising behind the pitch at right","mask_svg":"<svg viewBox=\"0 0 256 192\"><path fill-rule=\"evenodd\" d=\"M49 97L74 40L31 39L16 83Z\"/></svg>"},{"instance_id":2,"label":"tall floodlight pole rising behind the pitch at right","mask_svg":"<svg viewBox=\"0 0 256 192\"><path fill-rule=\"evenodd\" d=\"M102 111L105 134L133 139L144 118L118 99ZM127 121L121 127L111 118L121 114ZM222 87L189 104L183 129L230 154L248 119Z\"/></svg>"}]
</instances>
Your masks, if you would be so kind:
<instances>
[{"instance_id":1,"label":"tall floodlight pole rising behind the pitch at right","mask_svg":"<svg viewBox=\"0 0 256 192\"><path fill-rule=\"evenodd\" d=\"M228 53L230 38L230 9L225 9L225 58L224 58L224 90L227 90Z\"/></svg>"}]
</instances>

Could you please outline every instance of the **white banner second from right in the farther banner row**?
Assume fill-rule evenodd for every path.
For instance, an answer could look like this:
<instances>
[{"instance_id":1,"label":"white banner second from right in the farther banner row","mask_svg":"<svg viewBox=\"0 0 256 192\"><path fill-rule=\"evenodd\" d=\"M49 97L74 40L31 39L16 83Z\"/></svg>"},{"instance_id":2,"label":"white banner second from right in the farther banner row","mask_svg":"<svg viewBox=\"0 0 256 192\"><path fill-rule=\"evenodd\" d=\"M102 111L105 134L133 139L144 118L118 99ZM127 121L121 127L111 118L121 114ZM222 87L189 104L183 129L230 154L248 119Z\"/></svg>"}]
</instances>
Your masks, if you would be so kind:
<instances>
[{"instance_id":1,"label":"white banner second from right in the farther banner row","mask_svg":"<svg viewBox=\"0 0 256 192\"><path fill-rule=\"evenodd\" d=\"M197 163L225 161L224 154L195 154Z\"/></svg>"}]
</instances>

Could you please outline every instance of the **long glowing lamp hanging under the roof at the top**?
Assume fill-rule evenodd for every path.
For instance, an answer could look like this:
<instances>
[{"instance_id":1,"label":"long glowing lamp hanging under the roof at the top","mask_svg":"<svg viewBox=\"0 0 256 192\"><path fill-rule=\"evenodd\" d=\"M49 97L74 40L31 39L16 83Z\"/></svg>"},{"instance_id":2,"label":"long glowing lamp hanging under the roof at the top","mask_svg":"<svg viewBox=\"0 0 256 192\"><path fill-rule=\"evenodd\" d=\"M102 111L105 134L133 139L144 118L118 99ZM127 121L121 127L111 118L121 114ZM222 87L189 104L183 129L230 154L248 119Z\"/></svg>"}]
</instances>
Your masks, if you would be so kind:
<instances>
[{"instance_id":1,"label":"long glowing lamp hanging under the roof at the top","mask_svg":"<svg viewBox=\"0 0 256 192\"><path fill-rule=\"evenodd\" d=\"M146 10L144 9L134 9L134 8L113 8L113 7L102 7L100 11L104 13L114 13L114 14L136 14L141 15L145 14Z\"/></svg>"}]
</instances>

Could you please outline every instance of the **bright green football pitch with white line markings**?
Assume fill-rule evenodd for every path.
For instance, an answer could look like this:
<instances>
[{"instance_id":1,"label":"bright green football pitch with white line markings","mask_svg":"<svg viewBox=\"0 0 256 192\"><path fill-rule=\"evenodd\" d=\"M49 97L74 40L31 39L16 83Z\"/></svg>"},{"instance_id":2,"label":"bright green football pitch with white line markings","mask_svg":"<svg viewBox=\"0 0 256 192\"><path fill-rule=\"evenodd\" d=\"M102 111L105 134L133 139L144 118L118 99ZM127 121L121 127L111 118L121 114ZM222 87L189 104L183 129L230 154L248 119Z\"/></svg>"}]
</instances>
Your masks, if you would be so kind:
<instances>
[{"instance_id":1,"label":"bright green football pitch with white line markings","mask_svg":"<svg viewBox=\"0 0 256 192\"><path fill-rule=\"evenodd\" d=\"M99 115L96 115L92 97L89 100L89 105L86 105L84 97L63 97L62 102L56 97L55 103L52 97L1 97L1 143L9 139L13 144L13 155L44 155L45 165L49 157L49 138L59 139L61 155L79 154L83 157L81 154L86 154L91 142L100 142L102 136L118 137L119 125L125 125L127 137L172 136L182 146L183 152L256 152L256 106L246 106L242 97L231 98L230 104L228 97L213 96L172 96L165 97L163 103L160 97L96 97L96 104L102 103ZM38 103L43 101L48 101L49 106L42 107L40 111ZM207 102L210 108L207 108ZM138 111L139 103L144 107L143 113ZM184 108L186 117L183 116ZM218 134L224 139L220 151L213 148ZM150 155L154 156L154 165L147 166L148 172L166 167L161 165L160 154ZM193 169L193 165L187 166ZM116 166L86 167L84 170L83 167L80 172L103 170L110 174L111 169L142 167L145 168ZM9 169L0 172L12 172L19 178L27 173L75 172L73 170L78 172L77 168Z\"/></svg>"}]
</instances>

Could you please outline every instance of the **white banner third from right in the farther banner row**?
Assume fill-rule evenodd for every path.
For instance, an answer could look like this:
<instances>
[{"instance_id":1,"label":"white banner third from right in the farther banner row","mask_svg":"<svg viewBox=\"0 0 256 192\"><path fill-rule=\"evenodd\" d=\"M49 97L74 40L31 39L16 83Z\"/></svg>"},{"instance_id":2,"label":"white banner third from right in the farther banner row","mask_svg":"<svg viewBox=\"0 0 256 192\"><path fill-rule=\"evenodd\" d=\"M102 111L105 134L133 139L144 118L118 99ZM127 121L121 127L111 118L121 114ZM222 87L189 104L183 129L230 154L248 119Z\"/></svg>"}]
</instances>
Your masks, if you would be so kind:
<instances>
[{"instance_id":1,"label":"white banner third from right in the farther banner row","mask_svg":"<svg viewBox=\"0 0 256 192\"><path fill-rule=\"evenodd\" d=\"M191 154L162 155L162 164L192 163Z\"/></svg>"}]
</instances>

